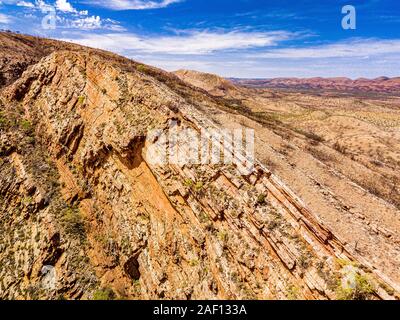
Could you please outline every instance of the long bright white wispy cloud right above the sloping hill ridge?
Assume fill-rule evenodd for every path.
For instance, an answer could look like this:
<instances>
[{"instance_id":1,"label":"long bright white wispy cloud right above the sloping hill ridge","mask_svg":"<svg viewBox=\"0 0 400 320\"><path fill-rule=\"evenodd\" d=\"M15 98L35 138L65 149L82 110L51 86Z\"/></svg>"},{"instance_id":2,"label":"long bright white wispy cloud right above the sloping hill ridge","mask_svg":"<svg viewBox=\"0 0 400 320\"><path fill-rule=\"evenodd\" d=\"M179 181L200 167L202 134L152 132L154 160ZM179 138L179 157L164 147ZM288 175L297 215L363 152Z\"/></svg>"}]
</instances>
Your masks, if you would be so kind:
<instances>
[{"instance_id":1,"label":"long bright white wispy cloud right above the sloping hill ridge","mask_svg":"<svg viewBox=\"0 0 400 320\"><path fill-rule=\"evenodd\" d=\"M80 34L73 41L82 45L127 53L209 54L216 51L274 46L291 37L287 32L188 31L179 35L142 37L132 33Z\"/></svg>"}]
</instances>

